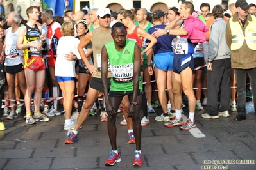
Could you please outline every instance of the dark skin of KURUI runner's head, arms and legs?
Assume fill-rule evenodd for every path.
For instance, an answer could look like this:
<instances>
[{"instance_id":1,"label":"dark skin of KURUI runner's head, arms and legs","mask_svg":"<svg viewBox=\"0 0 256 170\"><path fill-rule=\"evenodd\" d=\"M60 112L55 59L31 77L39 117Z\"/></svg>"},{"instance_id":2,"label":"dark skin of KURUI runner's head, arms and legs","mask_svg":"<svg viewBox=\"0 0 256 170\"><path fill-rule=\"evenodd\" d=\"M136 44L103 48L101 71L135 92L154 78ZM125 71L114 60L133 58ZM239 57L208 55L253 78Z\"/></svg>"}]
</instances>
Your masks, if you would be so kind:
<instances>
[{"instance_id":1,"label":"dark skin of KURUI runner's head, arms and legs","mask_svg":"<svg viewBox=\"0 0 256 170\"><path fill-rule=\"evenodd\" d=\"M126 45L126 29L124 27L114 27L112 32L112 38L114 40L115 49L121 51ZM111 61L110 61L111 63ZM133 94L129 95L129 103L131 101L137 101L138 105L130 104L128 108L128 117L132 118L133 121L133 132L135 135L136 150L141 150L141 121L139 118L139 111L141 108L142 95L137 95L139 91L139 77L140 77L140 66L141 66L141 48L137 43L134 46L134 61L133 61ZM108 53L105 46L101 50L101 80L103 85L103 91L106 102L106 112L108 114L108 135L110 138L110 144L112 150L117 150L116 144L116 114L123 97L110 97L108 95ZM122 84L120 84L122 86ZM128 102L128 101L127 101Z\"/></svg>"}]
</instances>

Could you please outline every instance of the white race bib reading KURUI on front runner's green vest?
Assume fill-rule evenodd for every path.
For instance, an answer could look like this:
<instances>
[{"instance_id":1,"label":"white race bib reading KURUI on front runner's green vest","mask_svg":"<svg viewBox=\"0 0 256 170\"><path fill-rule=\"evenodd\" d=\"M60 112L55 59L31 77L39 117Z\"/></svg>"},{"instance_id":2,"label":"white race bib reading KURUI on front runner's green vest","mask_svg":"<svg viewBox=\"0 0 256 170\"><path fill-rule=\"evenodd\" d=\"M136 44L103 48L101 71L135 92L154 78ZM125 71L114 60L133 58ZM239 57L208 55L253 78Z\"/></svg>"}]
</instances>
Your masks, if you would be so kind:
<instances>
[{"instance_id":1,"label":"white race bib reading KURUI on front runner's green vest","mask_svg":"<svg viewBox=\"0 0 256 170\"><path fill-rule=\"evenodd\" d=\"M127 65L110 65L112 79L115 82L133 81L133 63Z\"/></svg>"}]
</instances>

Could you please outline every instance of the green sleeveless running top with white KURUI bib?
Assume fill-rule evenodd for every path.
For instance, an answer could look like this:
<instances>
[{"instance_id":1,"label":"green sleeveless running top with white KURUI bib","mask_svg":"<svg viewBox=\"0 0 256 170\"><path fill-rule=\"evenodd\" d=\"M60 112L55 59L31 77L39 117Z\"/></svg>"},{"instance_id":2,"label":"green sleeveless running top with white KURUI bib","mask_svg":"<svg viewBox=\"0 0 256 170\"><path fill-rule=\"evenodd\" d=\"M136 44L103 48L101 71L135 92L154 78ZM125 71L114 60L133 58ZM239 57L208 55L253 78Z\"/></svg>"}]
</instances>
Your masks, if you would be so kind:
<instances>
[{"instance_id":1,"label":"green sleeveless running top with white KURUI bib","mask_svg":"<svg viewBox=\"0 0 256 170\"><path fill-rule=\"evenodd\" d=\"M133 91L133 61L135 42L126 40L122 51L115 49L115 42L105 45L112 78L110 80L110 91ZM142 76L139 80L139 91L142 92Z\"/></svg>"}]
</instances>

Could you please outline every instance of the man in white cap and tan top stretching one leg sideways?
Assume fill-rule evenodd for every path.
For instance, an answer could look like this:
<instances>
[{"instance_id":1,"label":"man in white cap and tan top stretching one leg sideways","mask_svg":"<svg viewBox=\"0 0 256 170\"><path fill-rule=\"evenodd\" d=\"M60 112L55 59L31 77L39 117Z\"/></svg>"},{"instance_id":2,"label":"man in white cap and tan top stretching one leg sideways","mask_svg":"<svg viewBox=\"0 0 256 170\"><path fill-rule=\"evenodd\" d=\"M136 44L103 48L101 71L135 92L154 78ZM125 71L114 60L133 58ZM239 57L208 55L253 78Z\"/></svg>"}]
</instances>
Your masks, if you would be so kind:
<instances>
[{"instance_id":1,"label":"man in white cap and tan top stretching one leg sideways","mask_svg":"<svg viewBox=\"0 0 256 170\"><path fill-rule=\"evenodd\" d=\"M73 132L69 134L67 139L65 140L66 144L73 144L74 141L78 141L78 130L83 125L83 122L87 119L90 109L94 105L94 102L98 98L99 95L103 95L103 89L101 84L101 48L106 43L112 40L111 37L111 29L110 29L110 10L109 8L99 8L97 11L97 16L99 20L99 27L90 31L85 35L85 38L78 45L78 51L80 56L83 58L87 58L87 54L85 54L83 47L88 45L90 42L93 47L93 56L94 56L94 65L89 63L89 60L85 61L85 65L89 69L92 74L92 80L90 82L90 87L87 93L87 100L85 100L85 104L83 105L83 109L78 116L78 120L76 122L76 127ZM108 72L108 85L110 86L110 77L111 72Z\"/></svg>"}]
</instances>

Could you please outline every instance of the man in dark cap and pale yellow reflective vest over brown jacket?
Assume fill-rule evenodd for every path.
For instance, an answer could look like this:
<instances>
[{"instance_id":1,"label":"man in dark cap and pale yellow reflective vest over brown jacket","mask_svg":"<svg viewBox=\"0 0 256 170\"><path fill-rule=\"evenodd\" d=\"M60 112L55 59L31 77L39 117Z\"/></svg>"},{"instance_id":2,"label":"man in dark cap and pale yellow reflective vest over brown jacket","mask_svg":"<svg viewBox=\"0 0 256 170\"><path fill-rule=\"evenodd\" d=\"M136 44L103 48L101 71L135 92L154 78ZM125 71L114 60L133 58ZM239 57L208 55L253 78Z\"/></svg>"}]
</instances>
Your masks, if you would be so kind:
<instances>
[{"instance_id":1,"label":"man in dark cap and pale yellow reflective vest over brown jacket","mask_svg":"<svg viewBox=\"0 0 256 170\"><path fill-rule=\"evenodd\" d=\"M250 5L245 0L237 0L235 7L237 12L226 25L226 43L231 49L231 67L237 79L238 115L234 121L241 121L246 119L246 73L250 78L253 96L256 97L256 17L248 13Z\"/></svg>"}]
</instances>

